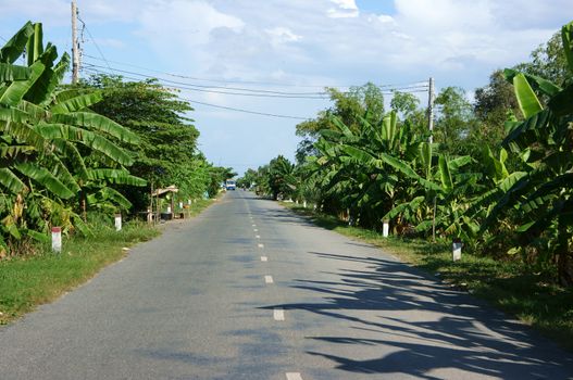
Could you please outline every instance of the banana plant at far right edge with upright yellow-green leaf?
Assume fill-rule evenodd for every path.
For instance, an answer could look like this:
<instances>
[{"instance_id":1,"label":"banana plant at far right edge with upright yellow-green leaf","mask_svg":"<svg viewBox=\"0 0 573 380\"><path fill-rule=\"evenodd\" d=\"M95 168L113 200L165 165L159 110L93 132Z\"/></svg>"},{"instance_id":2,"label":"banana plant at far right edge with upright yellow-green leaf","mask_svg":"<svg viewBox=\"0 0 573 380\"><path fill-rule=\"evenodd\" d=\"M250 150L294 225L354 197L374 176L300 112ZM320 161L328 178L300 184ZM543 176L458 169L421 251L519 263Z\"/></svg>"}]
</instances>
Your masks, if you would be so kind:
<instances>
[{"instance_id":1,"label":"banana plant at far right edge with upright yellow-green leaf","mask_svg":"<svg viewBox=\"0 0 573 380\"><path fill-rule=\"evenodd\" d=\"M573 23L561 31L573 72ZM521 154L528 170L497 201L488 224L516 212L522 223L515 249L549 252L557 259L559 281L573 286L573 84L561 88L532 75L505 74L525 119L510 124L502 145ZM546 105L540 97L548 99Z\"/></svg>"}]
</instances>

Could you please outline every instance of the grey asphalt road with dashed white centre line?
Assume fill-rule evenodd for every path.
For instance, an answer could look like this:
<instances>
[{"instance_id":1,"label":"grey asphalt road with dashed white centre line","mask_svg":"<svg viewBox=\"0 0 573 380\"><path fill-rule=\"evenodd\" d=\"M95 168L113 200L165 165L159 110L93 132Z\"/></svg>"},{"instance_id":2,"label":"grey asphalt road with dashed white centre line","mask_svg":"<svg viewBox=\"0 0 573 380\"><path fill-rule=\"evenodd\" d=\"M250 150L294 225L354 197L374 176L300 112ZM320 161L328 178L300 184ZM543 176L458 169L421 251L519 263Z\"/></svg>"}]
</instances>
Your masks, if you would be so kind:
<instances>
[{"instance_id":1,"label":"grey asphalt road with dashed white centre line","mask_svg":"<svg viewBox=\"0 0 573 380\"><path fill-rule=\"evenodd\" d=\"M413 378L569 379L573 356L244 191L0 328L2 380Z\"/></svg>"}]
</instances>

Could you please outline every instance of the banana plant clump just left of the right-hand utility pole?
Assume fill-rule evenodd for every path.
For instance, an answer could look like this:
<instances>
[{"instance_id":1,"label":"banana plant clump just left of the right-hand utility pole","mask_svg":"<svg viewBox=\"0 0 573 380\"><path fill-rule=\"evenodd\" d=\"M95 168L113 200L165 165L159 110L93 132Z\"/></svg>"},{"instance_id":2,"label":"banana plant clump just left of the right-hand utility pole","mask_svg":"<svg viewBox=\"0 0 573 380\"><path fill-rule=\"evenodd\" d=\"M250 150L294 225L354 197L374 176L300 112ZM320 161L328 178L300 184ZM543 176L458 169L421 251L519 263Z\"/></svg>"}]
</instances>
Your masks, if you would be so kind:
<instances>
[{"instance_id":1,"label":"banana plant clump just left of the right-hand utility pole","mask_svg":"<svg viewBox=\"0 0 573 380\"><path fill-rule=\"evenodd\" d=\"M419 157L423 137L413 134L409 123L398 127L394 111L377 125L362 118L357 132L336 118L333 123L337 129L323 131L315 145L322 154L319 163L328 169L329 191L344 194L341 200L363 221L379 225L388 211L414 198L421 186L437 188L423 175L425 166ZM404 215L397 220L399 228L409 223Z\"/></svg>"}]
</instances>

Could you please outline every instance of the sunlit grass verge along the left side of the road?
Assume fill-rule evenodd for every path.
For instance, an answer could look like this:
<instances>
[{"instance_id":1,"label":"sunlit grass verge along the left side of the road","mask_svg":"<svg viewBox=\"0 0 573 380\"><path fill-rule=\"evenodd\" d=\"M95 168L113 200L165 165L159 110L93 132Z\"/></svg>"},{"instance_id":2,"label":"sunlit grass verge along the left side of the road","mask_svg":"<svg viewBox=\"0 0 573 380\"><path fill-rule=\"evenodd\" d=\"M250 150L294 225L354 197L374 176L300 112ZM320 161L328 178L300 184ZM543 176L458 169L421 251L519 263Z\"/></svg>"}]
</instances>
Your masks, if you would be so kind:
<instances>
[{"instance_id":1,"label":"sunlit grass verge along the left side of the road","mask_svg":"<svg viewBox=\"0 0 573 380\"><path fill-rule=\"evenodd\" d=\"M215 200L199 200L188 208L196 216ZM169 224L167 224L169 225ZM61 254L46 246L34 256L0 261L0 325L58 299L126 255L128 248L150 240L160 230L146 223L124 224L121 231L99 228L89 238L64 239Z\"/></svg>"}]
</instances>

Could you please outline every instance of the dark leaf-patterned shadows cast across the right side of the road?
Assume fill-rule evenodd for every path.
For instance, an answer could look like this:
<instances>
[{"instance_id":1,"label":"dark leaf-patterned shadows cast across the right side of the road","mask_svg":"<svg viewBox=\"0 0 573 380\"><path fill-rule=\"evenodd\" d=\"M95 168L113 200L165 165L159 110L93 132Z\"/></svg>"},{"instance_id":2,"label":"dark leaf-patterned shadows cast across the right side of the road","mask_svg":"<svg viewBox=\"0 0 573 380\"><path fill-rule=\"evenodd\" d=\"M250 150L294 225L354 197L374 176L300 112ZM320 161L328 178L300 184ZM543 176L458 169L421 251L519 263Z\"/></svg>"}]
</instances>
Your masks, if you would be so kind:
<instances>
[{"instance_id":1,"label":"dark leaf-patterned shadows cast across the right side of the road","mask_svg":"<svg viewBox=\"0 0 573 380\"><path fill-rule=\"evenodd\" d=\"M292 288L310 292L307 303L267 306L303 311L342 322L337 335L307 337L326 343L309 351L360 373L407 373L443 378L436 370L461 370L503 379L573 378L573 358L525 326L465 293L448 289L407 265L377 257L310 252L341 263L333 280L298 279ZM323 273L325 274L325 273ZM315 302L314 302L315 300ZM374 313L366 313L374 312ZM334 322L334 321L333 321ZM338 325L337 325L338 326ZM366 337L366 338L364 338ZM359 359L333 354L336 345L378 346L381 357ZM441 372L440 372L441 373ZM460 372L457 372L458 375Z\"/></svg>"}]
</instances>

